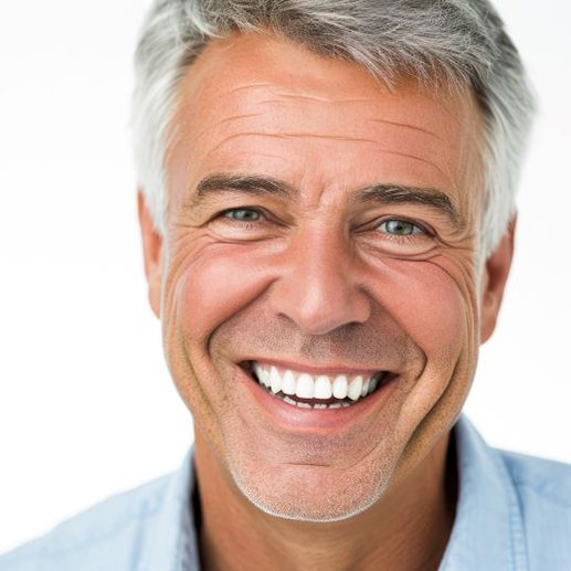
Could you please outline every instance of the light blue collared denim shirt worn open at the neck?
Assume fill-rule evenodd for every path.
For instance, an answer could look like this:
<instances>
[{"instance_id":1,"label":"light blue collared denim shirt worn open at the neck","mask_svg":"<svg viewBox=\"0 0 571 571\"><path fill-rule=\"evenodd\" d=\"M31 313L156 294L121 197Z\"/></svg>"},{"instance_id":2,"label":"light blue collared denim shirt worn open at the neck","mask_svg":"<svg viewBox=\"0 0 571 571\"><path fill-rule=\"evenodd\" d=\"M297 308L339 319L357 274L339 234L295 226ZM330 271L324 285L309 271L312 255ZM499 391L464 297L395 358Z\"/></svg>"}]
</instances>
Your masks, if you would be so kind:
<instances>
[{"instance_id":1,"label":"light blue collared denim shirt worn open at the neck","mask_svg":"<svg viewBox=\"0 0 571 571\"><path fill-rule=\"evenodd\" d=\"M571 466L496 451L461 416L458 504L441 571L570 571ZM192 452L0 558L0 571L198 571Z\"/></svg>"}]
</instances>

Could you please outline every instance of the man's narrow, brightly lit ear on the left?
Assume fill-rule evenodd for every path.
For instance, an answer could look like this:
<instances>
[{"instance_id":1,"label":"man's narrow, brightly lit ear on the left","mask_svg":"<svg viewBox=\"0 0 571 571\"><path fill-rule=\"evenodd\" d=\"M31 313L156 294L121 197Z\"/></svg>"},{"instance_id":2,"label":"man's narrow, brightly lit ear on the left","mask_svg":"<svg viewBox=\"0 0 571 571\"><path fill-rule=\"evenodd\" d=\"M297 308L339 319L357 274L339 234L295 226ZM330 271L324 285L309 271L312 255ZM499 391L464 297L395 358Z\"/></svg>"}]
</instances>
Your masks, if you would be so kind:
<instances>
[{"instance_id":1,"label":"man's narrow, brightly lit ear on the left","mask_svg":"<svg viewBox=\"0 0 571 571\"><path fill-rule=\"evenodd\" d=\"M149 302L155 315L160 319L160 294L162 287L162 236L155 230L152 216L142 192L137 193L139 225L142 239L145 275L149 286Z\"/></svg>"}]
</instances>

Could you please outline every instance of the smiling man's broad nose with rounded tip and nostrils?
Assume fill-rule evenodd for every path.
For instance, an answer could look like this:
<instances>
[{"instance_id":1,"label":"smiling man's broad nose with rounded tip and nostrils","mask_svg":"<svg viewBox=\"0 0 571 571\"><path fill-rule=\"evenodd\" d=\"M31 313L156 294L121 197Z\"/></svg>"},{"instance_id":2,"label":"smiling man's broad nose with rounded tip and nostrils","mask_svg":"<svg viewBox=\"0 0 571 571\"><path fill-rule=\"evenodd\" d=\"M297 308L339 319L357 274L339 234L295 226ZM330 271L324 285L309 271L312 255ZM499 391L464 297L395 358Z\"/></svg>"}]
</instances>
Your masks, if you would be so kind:
<instances>
[{"instance_id":1,"label":"smiling man's broad nose with rounded tip and nostrils","mask_svg":"<svg viewBox=\"0 0 571 571\"><path fill-rule=\"evenodd\" d=\"M273 309L308 335L325 335L371 315L350 246L330 234L299 236L272 292Z\"/></svg>"}]
</instances>

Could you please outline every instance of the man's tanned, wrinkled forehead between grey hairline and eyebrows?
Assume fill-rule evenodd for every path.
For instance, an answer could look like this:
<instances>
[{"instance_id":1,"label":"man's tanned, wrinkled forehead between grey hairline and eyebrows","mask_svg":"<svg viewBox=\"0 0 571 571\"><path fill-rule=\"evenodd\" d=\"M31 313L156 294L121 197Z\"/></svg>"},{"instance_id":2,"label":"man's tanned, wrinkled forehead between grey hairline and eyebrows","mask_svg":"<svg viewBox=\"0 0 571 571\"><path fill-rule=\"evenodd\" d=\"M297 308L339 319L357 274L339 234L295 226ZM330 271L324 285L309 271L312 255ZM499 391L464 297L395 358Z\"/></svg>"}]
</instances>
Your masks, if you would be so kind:
<instances>
[{"instance_id":1,"label":"man's tanned, wrinkled forehead between grey hairline and eyebrows","mask_svg":"<svg viewBox=\"0 0 571 571\"><path fill-rule=\"evenodd\" d=\"M192 191L221 170L288 183L376 182L475 192L480 118L469 94L401 80L389 91L361 66L285 40L234 34L190 67L172 121L169 188Z\"/></svg>"}]
</instances>

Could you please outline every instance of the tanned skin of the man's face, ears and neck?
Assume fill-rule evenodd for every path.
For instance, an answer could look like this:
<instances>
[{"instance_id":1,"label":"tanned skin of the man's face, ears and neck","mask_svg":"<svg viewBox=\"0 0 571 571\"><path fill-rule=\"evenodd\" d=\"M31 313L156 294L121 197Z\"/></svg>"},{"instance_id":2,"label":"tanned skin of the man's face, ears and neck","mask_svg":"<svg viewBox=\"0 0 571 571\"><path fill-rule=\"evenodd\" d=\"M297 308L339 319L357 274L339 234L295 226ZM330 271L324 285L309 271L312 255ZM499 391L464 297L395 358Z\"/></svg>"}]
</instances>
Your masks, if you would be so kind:
<instances>
[{"instance_id":1,"label":"tanned skin of the man's face, ears and neck","mask_svg":"<svg viewBox=\"0 0 571 571\"><path fill-rule=\"evenodd\" d=\"M510 226L479 263L480 129L467 93L404 78L391 93L273 36L213 42L183 80L168 235L140 197L139 214L150 303L195 424L207 568L437 568L450 430L512 253ZM221 176L282 190L198 192ZM372 186L433 199L363 200ZM337 411L268 403L246 360L394 380L329 422Z\"/></svg>"}]
</instances>

